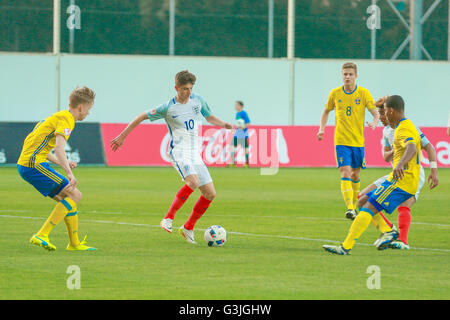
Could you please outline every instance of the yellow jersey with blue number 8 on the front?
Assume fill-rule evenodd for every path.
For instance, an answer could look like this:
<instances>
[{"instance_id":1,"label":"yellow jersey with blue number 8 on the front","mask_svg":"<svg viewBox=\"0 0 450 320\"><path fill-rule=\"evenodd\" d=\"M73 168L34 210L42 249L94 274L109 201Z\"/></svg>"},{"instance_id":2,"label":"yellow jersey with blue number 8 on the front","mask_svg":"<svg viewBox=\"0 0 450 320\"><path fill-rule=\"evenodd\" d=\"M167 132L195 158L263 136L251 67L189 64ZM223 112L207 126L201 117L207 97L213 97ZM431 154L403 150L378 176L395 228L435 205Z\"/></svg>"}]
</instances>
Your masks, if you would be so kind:
<instances>
[{"instance_id":1,"label":"yellow jersey with blue number 8 on the front","mask_svg":"<svg viewBox=\"0 0 450 320\"><path fill-rule=\"evenodd\" d=\"M369 90L356 86L352 92L345 92L344 86L338 87L331 90L325 107L336 111L334 144L364 147L365 111L376 108Z\"/></svg>"}]
</instances>

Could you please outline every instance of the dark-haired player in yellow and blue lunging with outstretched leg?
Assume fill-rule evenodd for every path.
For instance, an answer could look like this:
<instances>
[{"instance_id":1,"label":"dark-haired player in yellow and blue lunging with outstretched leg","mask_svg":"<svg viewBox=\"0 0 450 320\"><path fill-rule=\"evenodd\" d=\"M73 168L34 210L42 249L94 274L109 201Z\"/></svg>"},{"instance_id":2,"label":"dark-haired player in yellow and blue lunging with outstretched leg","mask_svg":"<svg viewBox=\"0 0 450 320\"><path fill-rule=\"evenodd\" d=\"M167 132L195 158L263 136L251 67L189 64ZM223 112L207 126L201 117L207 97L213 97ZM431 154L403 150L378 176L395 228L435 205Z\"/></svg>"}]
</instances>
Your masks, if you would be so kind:
<instances>
[{"instance_id":1,"label":"dark-haired player in yellow and blue lunging with outstretched leg","mask_svg":"<svg viewBox=\"0 0 450 320\"><path fill-rule=\"evenodd\" d=\"M391 214L416 194L420 180L420 135L411 120L405 118L404 108L400 96L390 96L386 101L386 116L395 128L392 172L379 188L367 194L368 200L353 221L345 241L340 246L324 245L326 251L349 254L372 220L382 220L380 211Z\"/></svg>"}]
</instances>

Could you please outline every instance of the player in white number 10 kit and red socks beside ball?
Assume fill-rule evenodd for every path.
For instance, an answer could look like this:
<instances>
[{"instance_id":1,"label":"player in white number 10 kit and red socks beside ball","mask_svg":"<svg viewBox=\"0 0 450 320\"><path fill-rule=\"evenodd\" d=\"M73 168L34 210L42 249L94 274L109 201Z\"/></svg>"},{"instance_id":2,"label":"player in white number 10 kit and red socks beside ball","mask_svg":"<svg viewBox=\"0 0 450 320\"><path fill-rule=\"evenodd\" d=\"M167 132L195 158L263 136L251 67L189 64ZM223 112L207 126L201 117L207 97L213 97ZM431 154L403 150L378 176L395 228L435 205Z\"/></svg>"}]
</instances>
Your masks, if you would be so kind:
<instances>
[{"instance_id":1,"label":"player in white number 10 kit and red socks beside ball","mask_svg":"<svg viewBox=\"0 0 450 320\"><path fill-rule=\"evenodd\" d=\"M130 124L111 141L111 148L116 151L125 141L128 134L142 121L164 119L171 135L168 155L173 167L180 174L185 185L177 192L168 213L161 221L161 228L172 232L175 213L186 202L188 197L199 188L202 195L194 205L186 223L180 227L180 234L188 243L196 243L194 226L205 213L216 196L213 181L201 158L199 126L203 116L209 123L232 129L233 126L211 113L203 97L192 93L196 77L188 70L180 71L175 76L176 97L162 105L139 114Z\"/></svg>"}]
</instances>

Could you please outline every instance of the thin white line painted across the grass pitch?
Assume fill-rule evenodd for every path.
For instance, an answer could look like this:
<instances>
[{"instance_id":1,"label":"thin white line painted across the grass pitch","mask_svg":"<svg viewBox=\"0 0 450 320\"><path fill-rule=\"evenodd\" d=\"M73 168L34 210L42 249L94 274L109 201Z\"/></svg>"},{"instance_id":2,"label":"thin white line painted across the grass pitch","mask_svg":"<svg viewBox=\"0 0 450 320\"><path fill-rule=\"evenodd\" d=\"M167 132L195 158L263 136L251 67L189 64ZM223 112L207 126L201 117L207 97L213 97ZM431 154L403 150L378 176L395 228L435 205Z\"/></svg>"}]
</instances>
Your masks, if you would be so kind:
<instances>
[{"instance_id":1,"label":"thin white line painted across the grass pitch","mask_svg":"<svg viewBox=\"0 0 450 320\"><path fill-rule=\"evenodd\" d=\"M0 218L18 218L18 219L45 220L45 218L39 218L39 217L23 217L23 216L12 216L12 215L0 215ZM150 224L145 224L145 223L131 223L131 222L116 222L116 221L107 221L107 220L83 220L83 222L117 224L117 225L135 226L135 227L161 228L161 226L159 226L159 225L150 225ZM205 231L206 229L197 229L197 230ZM341 243L341 241L337 241L337 240L315 239L315 238L293 237L293 236L282 236L282 235L273 235L273 234L247 233L247 232L238 232L238 231L227 231L227 233L240 235L240 236L250 236L250 237L262 237L262 238L277 238L277 239L289 239L289 240L304 240L304 241L315 241L315 242ZM357 243L357 245L373 246L373 244L369 244L369 243ZM423 250L423 251L450 252L450 249L416 248L416 247L411 247L411 249Z\"/></svg>"}]
</instances>

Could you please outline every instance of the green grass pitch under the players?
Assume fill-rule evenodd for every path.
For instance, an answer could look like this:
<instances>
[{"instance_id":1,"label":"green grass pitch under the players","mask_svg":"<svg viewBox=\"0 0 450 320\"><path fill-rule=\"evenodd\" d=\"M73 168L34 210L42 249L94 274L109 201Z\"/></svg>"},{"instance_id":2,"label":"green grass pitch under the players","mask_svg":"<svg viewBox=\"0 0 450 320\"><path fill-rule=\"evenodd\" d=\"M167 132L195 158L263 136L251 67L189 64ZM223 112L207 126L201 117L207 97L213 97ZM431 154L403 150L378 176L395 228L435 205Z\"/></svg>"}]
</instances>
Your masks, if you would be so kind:
<instances>
[{"instance_id":1,"label":"green grass pitch under the players","mask_svg":"<svg viewBox=\"0 0 450 320\"><path fill-rule=\"evenodd\" d=\"M196 226L199 244L189 245L159 228L182 185L172 168L77 168L80 238L88 234L99 250L66 251L62 222L51 234L57 250L47 252L28 241L55 202L15 168L0 168L0 299L450 299L450 170L441 169L440 185L425 186L413 207L411 250L377 251L370 226L350 256L321 248L343 241L350 227L337 169L210 172L217 197ZM361 186L386 172L362 171ZM197 190L174 226L198 197ZM228 231L224 247L203 241L213 224ZM79 290L66 285L71 265L81 271ZM380 289L367 287L373 265Z\"/></svg>"}]
</instances>

